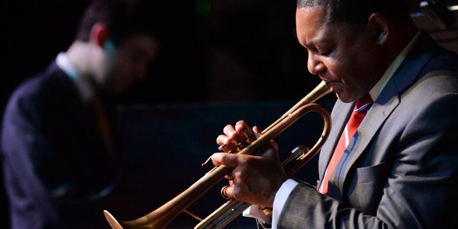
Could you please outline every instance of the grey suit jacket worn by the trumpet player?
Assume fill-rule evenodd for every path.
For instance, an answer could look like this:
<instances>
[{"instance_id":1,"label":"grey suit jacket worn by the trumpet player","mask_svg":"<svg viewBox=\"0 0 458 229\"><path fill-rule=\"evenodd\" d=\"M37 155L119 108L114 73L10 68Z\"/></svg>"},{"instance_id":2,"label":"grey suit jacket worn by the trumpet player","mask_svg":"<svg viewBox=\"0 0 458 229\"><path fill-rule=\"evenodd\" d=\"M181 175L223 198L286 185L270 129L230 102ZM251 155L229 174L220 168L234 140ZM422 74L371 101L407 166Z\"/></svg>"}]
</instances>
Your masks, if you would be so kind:
<instances>
[{"instance_id":1,"label":"grey suit jacket worn by the trumpet player","mask_svg":"<svg viewBox=\"0 0 458 229\"><path fill-rule=\"evenodd\" d=\"M354 103L337 101L320 180ZM298 185L278 228L458 228L458 58L423 33L330 177Z\"/></svg>"}]
</instances>

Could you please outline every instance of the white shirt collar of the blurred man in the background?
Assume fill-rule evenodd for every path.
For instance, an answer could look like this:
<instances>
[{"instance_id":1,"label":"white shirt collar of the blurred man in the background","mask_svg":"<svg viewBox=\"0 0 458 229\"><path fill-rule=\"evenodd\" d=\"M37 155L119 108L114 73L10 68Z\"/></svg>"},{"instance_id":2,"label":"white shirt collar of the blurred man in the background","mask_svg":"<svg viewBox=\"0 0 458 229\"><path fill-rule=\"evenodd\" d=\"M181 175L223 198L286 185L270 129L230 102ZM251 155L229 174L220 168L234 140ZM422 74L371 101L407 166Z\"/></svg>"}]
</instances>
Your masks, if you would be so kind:
<instances>
[{"instance_id":1,"label":"white shirt collar of the blurred man in the background","mask_svg":"<svg viewBox=\"0 0 458 229\"><path fill-rule=\"evenodd\" d=\"M62 71L75 83L76 89L78 90L79 95L83 102L88 102L94 98L95 90L91 82L85 78L81 77L81 74L78 70L72 65L67 54L65 52L60 52L55 59L56 64L59 66Z\"/></svg>"}]
</instances>

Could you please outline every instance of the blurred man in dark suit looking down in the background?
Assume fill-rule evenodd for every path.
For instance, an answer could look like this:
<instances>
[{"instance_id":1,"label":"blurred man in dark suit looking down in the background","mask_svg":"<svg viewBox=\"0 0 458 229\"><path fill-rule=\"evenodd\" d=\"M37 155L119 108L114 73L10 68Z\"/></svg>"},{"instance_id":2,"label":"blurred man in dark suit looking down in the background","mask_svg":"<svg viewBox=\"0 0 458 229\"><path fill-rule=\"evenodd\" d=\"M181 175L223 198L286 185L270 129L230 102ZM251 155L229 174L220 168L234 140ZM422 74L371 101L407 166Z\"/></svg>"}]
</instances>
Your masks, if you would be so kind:
<instances>
[{"instance_id":1,"label":"blurred man in dark suit looking down in the background","mask_svg":"<svg viewBox=\"0 0 458 229\"><path fill-rule=\"evenodd\" d=\"M11 96L2 163L12 228L90 228L120 171L103 98L145 79L157 53L141 4L97 0L69 49Z\"/></svg>"}]
</instances>

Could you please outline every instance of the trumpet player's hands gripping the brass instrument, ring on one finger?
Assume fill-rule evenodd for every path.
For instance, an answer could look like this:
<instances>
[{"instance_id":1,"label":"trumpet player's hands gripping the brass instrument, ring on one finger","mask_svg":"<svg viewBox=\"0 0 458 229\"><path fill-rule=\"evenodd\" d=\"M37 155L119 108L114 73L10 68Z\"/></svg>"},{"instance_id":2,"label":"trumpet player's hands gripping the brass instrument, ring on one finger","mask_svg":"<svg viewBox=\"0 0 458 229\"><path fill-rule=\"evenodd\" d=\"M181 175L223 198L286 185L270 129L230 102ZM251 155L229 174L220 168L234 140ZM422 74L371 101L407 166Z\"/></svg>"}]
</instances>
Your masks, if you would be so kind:
<instances>
[{"instance_id":1,"label":"trumpet player's hands gripping the brass instrument, ring on one finger","mask_svg":"<svg viewBox=\"0 0 458 229\"><path fill-rule=\"evenodd\" d=\"M230 144L239 137L239 133L245 129L247 133L261 136L257 127L251 129L244 121L239 121L234 126L224 127L224 135L216 139L218 145ZM234 167L231 174L225 178L230 180L231 187L226 189L230 198L263 207L272 207L275 194L288 179L277 153L278 147L271 140L262 151L261 156L237 155L228 153L215 153L212 161L215 165L225 164Z\"/></svg>"}]
</instances>

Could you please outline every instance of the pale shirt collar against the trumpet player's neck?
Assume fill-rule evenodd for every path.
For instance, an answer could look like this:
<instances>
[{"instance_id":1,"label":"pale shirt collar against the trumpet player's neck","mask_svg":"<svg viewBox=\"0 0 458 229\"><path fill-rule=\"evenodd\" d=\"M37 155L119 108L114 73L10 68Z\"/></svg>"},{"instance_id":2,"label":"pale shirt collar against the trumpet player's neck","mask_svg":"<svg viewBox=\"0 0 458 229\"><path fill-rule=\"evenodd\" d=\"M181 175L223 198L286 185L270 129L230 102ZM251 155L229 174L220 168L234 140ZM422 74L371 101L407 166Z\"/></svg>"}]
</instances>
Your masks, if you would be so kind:
<instances>
[{"instance_id":1,"label":"pale shirt collar against the trumpet player's neck","mask_svg":"<svg viewBox=\"0 0 458 229\"><path fill-rule=\"evenodd\" d=\"M412 40L407 44L407 46L399 53L399 55L394 59L393 63L391 63L390 67L385 71L382 78L375 84L374 88L369 91L369 95L373 101L376 101L377 97L379 97L382 90L385 88L385 85L394 75L394 72L399 68L400 64L406 59L406 56L409 54L410 50L412 50L412 46L417 42L418 38L420 37L420 30L418 30L417 34L412 38Z\"/></svg>"}]
</instances>

